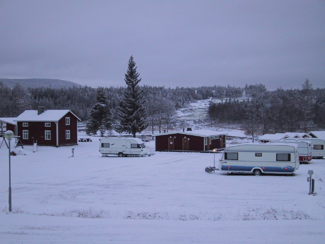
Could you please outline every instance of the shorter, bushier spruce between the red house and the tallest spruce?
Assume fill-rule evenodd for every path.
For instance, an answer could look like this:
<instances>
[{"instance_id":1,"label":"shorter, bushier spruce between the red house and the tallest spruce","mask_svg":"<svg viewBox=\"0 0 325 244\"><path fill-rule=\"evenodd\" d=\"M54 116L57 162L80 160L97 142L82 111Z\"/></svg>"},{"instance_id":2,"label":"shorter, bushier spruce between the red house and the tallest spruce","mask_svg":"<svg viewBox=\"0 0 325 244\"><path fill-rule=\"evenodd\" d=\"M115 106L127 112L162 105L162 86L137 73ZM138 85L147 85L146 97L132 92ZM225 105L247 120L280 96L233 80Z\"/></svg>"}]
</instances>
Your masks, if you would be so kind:
<instances>
[{"instance_id":1,"label":"shorter, bushier spruce between the red house and the tallest spruce","mask_svg":"<svg viewBox=\"0 0 325 244\"><path fill-rule=\"evenodd\" d=\"M90 119L86 126L87 134L96 134L99 130L104 136L107 130L112 129L113 115L108 104L107 95L103 87L98 87L96 103L90 111Z\"/></svg>"}]
</instances>

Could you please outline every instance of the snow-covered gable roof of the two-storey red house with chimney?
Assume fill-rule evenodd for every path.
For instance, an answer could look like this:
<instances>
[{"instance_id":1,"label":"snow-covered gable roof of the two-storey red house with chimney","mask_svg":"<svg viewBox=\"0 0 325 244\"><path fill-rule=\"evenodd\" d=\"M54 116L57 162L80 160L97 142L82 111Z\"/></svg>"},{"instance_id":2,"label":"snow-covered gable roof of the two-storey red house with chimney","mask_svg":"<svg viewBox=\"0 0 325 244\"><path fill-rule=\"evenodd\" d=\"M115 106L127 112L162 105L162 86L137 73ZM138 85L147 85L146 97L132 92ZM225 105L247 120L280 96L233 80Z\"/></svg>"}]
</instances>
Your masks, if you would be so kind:
<instances>
[{"instance_id":1,"label":"snow-covered gable roof of the two-storey red house with chimney","mask_svg":"<svg viewBox=\"0 0 325 244\"><path fill-rule=\"evenodd\" d=\"M44 110L43 113L38 115L38 110L25 110L14 121L58 121L64 115L71 112L70 110ZM73 112L71 112L78 120Z\"/></svg>"}]
</instances>

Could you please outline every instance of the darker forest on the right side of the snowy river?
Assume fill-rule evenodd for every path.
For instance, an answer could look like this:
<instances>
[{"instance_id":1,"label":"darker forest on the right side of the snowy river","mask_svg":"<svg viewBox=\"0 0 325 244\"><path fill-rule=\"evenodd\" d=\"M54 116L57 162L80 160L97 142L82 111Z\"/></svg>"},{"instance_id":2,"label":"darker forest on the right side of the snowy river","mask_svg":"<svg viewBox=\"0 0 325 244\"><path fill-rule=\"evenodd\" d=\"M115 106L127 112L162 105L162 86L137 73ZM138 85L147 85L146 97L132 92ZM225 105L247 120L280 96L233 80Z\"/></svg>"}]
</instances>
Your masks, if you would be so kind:
<instances>
[{"instance_id":1,"label":"darker forest on the right side of the snowy river","mask_svg":"<svg viewBox=\"0 0 325 244\"><path fill-rule=\"evenodd\" d=\"M313 89L309 80L301 90L255 89L250 98L242 101L211 103L209 116L212 123L243 125L251 135L308 132L325 127L325 89Z\"/></svg>"}]
</instances>

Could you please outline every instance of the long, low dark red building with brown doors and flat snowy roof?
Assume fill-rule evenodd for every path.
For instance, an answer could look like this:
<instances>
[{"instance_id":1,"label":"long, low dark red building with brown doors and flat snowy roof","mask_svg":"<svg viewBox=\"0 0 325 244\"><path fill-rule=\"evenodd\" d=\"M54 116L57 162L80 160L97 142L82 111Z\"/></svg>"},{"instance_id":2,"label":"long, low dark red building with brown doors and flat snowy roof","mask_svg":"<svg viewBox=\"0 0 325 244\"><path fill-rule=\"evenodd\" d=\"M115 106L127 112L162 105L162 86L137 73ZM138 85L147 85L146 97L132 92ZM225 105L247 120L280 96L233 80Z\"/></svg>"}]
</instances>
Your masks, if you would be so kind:
<instances>
[{"instance_id":1,"label":"long, low dark red building with brown doors and flat snowy roof","mask_svg":"<svg viewBox=\"0 0 325 244\"><path fill-rule=\"evenodd\" d=\"M209 151L225 147L226 135L211 130L173 131L154 134L156 151Z\"/></svg>"}]
</instances>

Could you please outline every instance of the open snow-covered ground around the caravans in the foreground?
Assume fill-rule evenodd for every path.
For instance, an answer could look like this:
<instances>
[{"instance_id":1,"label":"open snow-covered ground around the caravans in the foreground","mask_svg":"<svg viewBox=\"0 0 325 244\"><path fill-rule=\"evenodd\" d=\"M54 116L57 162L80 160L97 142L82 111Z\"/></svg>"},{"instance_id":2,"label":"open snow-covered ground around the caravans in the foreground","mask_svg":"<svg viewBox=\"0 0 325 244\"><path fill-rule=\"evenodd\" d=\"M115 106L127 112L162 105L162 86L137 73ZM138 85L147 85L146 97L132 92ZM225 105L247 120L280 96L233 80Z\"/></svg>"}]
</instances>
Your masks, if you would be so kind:
<instances>
[{"instance_id":1,"label":"open snow-covered ground around the caravans in the foreground","mask_svg":"<svg viewBox=\"0 0 325 244\"><path fill-rule=\"evenodd\" d=\"M209 174L219 154L103 158L91 138L12 156L11 213L2 146L0 243L324 243L325 160L295 176Z\"/></svg>"}]
</instances>

